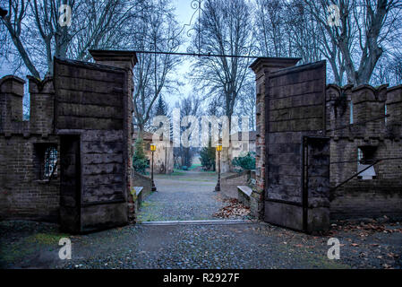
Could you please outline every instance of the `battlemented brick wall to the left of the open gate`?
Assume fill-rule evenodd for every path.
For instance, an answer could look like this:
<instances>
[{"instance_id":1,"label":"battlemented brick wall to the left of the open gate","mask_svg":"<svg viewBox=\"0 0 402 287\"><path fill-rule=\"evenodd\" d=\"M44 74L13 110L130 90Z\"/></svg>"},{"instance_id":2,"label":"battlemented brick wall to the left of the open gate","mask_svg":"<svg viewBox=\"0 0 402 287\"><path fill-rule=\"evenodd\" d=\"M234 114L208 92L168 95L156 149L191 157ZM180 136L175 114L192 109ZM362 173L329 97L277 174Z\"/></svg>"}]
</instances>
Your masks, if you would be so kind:
<instances>
[{"instance_id":1,"label":"battlemented brick wall to the left of the open gate","mask_svg":"<svg viewBox=\"0 0 402 287\"><path fill-rule=\"evenodd\" d=\"M53 83L30 79L30 118L41 114L42 124L22 121L23 83L15 76L0 80L0 217L56 222L58 174L50 181L39 180L37 163L38 144L58 145L58 137L45 128L53 118ZM52 104L38 104L43 99Z\"/></svg>"}]
</instances>

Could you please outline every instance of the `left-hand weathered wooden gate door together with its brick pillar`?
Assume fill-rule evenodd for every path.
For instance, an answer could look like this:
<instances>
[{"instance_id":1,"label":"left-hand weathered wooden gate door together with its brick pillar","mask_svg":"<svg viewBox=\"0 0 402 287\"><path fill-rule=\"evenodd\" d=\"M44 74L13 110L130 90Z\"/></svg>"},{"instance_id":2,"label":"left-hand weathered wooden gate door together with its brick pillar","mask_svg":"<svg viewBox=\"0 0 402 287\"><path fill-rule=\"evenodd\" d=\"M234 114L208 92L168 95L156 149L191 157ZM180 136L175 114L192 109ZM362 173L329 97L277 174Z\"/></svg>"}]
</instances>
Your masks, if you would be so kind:
<instances>
[{"instance_id":1,"label":"left-hand weathered wooden gate door together with its brick pillar","mask_svg":"<svg viewBox=\"0 0 402 287\"><path fill-rule=\"evenodd\" d=\"M130 68L109 61L99 65L55 60L56 134L71 138L61 161L69 162L73 153L77 163L62 166L62 174L76 169L75 177L61 178L62 198L73 199L61 201L62 227L73 232L124 225L129 218L132 152L127 141L133 135L127 119L132 112L128 71L135 54L102 52L96 61L103 63L103 57L116 55L118 64L125 61ZM83 93L76 97L77 91ZM64 222L68 214L73 216Z\"/></svg>"}]
</instances>

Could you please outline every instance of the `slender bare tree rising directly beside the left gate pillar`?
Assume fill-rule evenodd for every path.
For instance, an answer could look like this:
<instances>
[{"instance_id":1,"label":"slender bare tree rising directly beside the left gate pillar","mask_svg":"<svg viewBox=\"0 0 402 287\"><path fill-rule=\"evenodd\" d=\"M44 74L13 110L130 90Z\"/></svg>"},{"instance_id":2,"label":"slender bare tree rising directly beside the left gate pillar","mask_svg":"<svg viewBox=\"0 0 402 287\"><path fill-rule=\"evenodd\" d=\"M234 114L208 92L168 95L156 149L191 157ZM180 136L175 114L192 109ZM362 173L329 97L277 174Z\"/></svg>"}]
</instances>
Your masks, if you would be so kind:
<instances>
[{"instance_id":1,"label":"slender bare tree rising directly beside the left gate pillar","mask_svg":"<svg viewBox=\"0 0 402 287\"><path fill-rule=\"evenodd\" d=\"M135 48L156 52L175 52L181 44L179 27L172 7L167 1L155 1L148 11L141 13L135 25L139 30ZM134 68L134 117L142 135L152 116L152 107L163 91L171 91L175 81L171 77L179 57L168 54L141 54Z\"/></svg>"}]
</instances>

